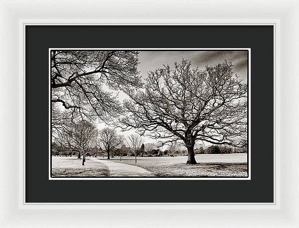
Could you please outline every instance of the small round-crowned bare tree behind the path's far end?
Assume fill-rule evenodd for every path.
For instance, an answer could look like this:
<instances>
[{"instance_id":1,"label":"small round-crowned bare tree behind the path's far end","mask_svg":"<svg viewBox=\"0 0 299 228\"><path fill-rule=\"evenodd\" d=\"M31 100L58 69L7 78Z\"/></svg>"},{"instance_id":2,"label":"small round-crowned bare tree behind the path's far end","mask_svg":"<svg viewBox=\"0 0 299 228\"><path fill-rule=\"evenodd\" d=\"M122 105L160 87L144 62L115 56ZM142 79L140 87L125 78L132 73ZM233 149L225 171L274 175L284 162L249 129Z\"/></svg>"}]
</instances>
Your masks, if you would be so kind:
<instances>
[{"instance_id":1,"label":"small round-crowned bare tree behind the path's far end","mask_svg":"<svg viewBox=\"0 0 299 228\"><path fill-rule=\"evenodd\" d=\"M107 159L110 159L110 152L119 148L123 142L124 136L117 134L115 129L105 127L98 133L97 145L107 152Z\"/></svg>"}]
</instances>

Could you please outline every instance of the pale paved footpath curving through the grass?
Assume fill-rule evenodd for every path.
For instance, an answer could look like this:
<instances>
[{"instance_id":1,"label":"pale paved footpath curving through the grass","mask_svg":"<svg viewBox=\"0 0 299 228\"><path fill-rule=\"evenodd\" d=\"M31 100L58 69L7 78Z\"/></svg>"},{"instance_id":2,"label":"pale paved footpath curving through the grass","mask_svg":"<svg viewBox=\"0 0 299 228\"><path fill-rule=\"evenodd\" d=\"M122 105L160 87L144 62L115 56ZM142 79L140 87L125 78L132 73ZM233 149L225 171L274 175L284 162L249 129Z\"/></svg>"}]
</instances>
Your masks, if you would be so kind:
<instances>
[{"instance_id":1,"label":"pale paved footpath curving through the grass","mask_svg":"<svg viewBox=\"0 0 299 228\"><path fill-rule=\"evenodd\" d=\"M92 160L101 162L105 165L108 166L110 174L109 176L123 176L123 177L130 177L130 176L154 176L151 172L148 170L134 166L134 165L129 165L125 163L120 163L120 162L114 162L110 161L107 159L98 159L98 158L93 158Z\"/></svg>"}]
</instances>

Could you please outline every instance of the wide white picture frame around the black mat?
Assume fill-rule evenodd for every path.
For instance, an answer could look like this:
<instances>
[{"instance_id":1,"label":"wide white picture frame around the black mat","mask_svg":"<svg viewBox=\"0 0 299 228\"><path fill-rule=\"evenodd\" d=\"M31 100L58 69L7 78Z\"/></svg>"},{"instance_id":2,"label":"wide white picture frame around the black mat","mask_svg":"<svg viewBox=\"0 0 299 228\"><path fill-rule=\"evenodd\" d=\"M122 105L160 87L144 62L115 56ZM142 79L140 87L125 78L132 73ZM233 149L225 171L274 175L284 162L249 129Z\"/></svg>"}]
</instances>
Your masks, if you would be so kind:
<instances>
[{"instance_id":1,"label":"wide white picture frame around the black mat","mask_svg":"<svg viewBox=\"0 0 299 228\"><path fill-rule=\"evenodd\" d=\"M298 0L1 0L0 20L0 227L299 228ZM25 25L273 25L274 203L25 203Z\"/></svg>"}]
</instances>

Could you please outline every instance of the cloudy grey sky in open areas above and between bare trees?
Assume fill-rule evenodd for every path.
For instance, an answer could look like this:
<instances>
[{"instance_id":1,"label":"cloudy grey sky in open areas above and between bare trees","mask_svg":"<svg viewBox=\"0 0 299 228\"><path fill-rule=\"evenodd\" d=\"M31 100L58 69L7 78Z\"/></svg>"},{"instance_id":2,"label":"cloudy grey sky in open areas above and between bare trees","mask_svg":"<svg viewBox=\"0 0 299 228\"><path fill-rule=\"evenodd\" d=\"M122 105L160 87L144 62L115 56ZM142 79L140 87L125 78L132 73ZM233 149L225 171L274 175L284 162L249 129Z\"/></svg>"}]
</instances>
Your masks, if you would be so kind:
<instances>
[{"instance_id":1,"label":"cloudy grey sky in open areas above and between bare trees","mask_svg":"<svg viewBox=\"0 0 299 228\"><path fill-rule=\"evenodd\" d=\"M247 82L247 51L141 51L139 54L138 70L142 78L148 76L149 71L163 68L163 65L173 67L174 62L181 62L182 59L191 61L191 68L204 69L206 65L222 63L225 60L231 62L234 74L240 76L243 82ZM103 86L104 87L104 86ZM104 89L109 90L107 87ZM111 91L111 90L109 90ZM113 91L116 94L115 91ZM119 100L129 98L124 92L119 91ZM105 127L105 124L99 124L99 129ZM127 137L135 133L134 130L122 132ZM155 143L149 137L144 137L144 143Z\"/></svg>"}]
</instances>

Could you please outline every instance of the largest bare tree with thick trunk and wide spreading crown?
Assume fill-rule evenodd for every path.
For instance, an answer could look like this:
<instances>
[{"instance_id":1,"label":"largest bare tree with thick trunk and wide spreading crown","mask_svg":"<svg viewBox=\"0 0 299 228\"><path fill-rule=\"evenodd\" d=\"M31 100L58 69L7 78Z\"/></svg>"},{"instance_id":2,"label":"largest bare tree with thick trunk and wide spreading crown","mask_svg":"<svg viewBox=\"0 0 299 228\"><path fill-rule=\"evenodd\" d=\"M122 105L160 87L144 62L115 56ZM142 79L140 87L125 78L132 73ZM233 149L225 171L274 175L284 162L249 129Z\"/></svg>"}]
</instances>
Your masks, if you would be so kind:
<instances>
[{"instance_id":1,"label":"largest bare tree with thick trunk and wide spreading crown","mask_svg":"<svg viewBox=\"0 0 299 228\"><path fill-rule=\"evenodd\" d=\"M247 138L247 83L227 61L199 70L182 60L174 69L149 72L145 89L128 94L123 129L137 128L163 143L183 142L187 164L196 164L196 140L240 146Z\"/></svg>"}]
</instances>

